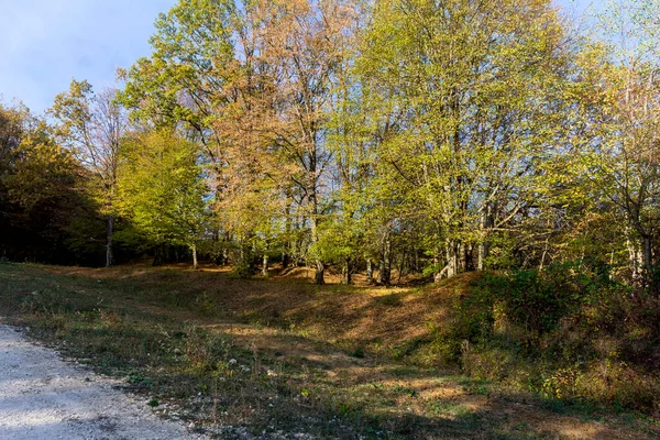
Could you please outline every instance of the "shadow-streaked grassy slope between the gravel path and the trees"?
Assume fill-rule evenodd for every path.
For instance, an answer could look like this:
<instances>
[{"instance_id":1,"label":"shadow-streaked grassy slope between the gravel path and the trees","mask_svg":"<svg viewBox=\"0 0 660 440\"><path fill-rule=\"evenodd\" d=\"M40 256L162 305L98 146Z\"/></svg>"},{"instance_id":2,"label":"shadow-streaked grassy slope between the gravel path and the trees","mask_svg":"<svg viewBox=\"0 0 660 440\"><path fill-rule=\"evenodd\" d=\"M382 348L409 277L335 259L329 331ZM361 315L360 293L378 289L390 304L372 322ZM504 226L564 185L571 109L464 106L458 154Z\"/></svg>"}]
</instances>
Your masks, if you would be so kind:
<instances>
[{"instance_id":1,"label":"shadow-streaked grassy slope between the gravel path and the trees","mask_svg":"<svg viewBox=\"0 0 660 440\"><path fill-rule=\"evenodd\" d=\"M461 376L430 334L471 284L0 264L0 314L219 438L652 439L640 415Z\"/></svg>"}]
</instances>

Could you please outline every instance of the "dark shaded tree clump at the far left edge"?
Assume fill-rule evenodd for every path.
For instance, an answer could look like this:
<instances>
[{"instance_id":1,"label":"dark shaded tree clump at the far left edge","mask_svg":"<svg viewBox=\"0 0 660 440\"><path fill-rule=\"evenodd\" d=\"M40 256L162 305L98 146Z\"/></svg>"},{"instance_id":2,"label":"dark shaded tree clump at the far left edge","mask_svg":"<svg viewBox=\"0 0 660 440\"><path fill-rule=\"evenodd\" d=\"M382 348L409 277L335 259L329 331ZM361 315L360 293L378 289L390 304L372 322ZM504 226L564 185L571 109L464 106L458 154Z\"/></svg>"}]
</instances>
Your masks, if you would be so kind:
<instances>
[{"instance_id":1,"label":"dark shaded tree clump at the far left edge","mask_svg":"<svg viewBox=\"0 0 660 440\"><path fill-rule=\"evenodd\" d=\"M44 120L0 106L0 254L12 260L90 264L94 204L88 175Z\"/></svg>"}]
</instances>

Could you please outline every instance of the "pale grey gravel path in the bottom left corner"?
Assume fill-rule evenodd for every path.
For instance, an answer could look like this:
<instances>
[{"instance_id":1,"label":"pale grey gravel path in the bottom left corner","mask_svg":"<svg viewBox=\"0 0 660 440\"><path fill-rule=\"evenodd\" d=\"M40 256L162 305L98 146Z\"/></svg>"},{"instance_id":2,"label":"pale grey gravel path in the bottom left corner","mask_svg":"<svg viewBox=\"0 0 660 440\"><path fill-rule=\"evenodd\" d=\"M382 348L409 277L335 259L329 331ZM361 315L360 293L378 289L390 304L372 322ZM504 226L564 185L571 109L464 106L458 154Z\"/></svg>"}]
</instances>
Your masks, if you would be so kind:
<instances>
[{"instance_id":1,"label":"pale grey gravel path in the bottom left corner","mask_svg":"<svg viewBox=\"0 0 660 440\"><path fill-rule=\"evenodd\" d=\"M201 439L0 324L0 439Z\"/></svg>"}]
</instances>

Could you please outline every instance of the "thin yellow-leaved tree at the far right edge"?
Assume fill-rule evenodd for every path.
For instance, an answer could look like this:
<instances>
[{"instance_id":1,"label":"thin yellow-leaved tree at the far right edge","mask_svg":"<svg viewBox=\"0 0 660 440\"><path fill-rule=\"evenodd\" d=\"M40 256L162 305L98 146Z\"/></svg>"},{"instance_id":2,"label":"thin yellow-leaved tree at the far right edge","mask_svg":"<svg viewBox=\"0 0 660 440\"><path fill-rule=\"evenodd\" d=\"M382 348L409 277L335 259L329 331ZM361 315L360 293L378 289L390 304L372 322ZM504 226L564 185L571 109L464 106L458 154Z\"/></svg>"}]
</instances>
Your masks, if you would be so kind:
<instances>
[{"instance_id":1,"label":"thin yellow-leaved tree at the far right edge","mask_svg":"<svg viewBox=\"0 0 660 440\"><path fill-rule=\"evenodd\" d=\"M609 59L598 69L605 118L594 133L600 183L623 213L632 277L646 284L660 227L659 13L653 1L609 2L602 16Z\"/></svg>"}]
</instances>

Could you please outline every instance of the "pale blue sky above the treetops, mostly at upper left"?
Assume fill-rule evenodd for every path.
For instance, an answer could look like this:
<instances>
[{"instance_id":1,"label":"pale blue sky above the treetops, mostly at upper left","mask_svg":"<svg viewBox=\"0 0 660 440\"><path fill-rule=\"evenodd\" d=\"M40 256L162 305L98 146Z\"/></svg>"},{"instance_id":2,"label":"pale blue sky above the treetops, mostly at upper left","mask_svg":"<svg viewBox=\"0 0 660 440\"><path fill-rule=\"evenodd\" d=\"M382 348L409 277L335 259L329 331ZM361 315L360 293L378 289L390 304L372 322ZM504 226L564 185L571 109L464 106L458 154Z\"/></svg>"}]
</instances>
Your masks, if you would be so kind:
<instances>
[{"instance_id":1,"label":"pale blue sky above the treetops, mostly at upper left","mask_svg":"<svg viewBox=\"0 0 660 440\"><path fill-rule=\"evenodd\" d=\"M554 0L580 12L601 0ZM41 113L73 78L97 90L150 54L160 12L176 0L0 0L0 102Z\"/></svg>"}]
</instances>

